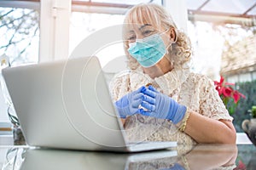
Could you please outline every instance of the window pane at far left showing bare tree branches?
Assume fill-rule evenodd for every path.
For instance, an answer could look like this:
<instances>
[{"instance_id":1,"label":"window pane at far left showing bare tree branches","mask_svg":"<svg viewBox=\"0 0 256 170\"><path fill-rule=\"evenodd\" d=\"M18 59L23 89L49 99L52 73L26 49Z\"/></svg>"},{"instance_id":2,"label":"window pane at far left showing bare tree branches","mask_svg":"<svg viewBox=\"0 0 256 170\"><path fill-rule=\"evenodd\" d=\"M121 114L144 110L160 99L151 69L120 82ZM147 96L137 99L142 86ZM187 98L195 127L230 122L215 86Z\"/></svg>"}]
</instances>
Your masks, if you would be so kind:
<instances>
[{"instance_id":1,"label":"window pane at far left showing bare tree branches","mask_svg":"<svg viewBox=\"0 0 256 170\"><path fill-rule=\"evenodd\" d=\"M6 56L10 65L38 63L39 12L35 8L9 7L10 4L14 5L0 3L0 57ZM8 122L2 88L0 94L0 120Z\"/></svg>"}]
</instances>

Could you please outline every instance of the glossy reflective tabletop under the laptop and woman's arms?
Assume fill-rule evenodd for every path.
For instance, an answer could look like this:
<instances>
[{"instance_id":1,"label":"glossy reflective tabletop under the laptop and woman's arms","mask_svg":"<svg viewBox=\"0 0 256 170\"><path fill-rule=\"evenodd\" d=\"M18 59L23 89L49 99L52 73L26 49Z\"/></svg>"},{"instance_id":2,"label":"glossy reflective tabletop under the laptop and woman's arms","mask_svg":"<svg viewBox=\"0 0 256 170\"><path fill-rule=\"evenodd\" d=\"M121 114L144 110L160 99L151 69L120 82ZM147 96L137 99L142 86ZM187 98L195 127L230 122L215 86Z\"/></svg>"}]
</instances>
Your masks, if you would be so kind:
<instances>
[{"instance_id":1,"label":"glossy reflective tabletop under the laptop and woman's arms","mask_svg":"<svg viewBox=\"0 0 256 170\"><path fill-rule=\"evenodd\" d=\"M177 150L136 154L10 148L2 169L250 169L255 154L253 144L179 145Z\"/></svg>"}]
</instances>

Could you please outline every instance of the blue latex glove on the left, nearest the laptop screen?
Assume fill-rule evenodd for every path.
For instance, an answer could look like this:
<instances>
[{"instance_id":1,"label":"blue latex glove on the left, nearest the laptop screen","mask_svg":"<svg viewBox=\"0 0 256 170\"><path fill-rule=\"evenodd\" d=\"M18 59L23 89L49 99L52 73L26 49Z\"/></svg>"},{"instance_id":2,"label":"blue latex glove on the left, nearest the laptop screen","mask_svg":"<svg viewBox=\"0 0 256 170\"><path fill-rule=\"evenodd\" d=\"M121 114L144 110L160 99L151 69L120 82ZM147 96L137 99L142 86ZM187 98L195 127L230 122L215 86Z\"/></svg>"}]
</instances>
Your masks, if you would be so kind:
<instances>
[{"instance_id":1,"label":"blue latex glove on the left, nearest the laptop screen","mask_svg":"<svg viewBox=\"0 0 256 170\"><path fill-rule=\"evenodd\" d=\"M144 112L142 108L138 108L143 102L144 94L142 92L144 89L146 89L144 86L138 88L114 103L121 118Z\"/></svg>"}]
</instances>

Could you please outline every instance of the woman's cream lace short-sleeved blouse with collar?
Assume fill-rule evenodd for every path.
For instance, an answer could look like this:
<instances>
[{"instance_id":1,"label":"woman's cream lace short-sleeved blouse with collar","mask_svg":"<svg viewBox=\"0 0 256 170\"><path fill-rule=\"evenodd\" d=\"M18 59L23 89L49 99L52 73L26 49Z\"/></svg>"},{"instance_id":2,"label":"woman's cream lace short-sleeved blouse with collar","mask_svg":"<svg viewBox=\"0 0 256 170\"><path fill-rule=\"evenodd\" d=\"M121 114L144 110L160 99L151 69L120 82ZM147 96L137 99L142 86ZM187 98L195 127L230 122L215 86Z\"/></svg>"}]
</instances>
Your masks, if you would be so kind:
<instances>
[{"instance_id":1,"label":"woman's cream lace short-sleeved blouse with collar","mask_svg":"<svg viewBox=\"0 0 256 170\"><path fill-rule=\"evenodd\" d=\"M125 94L137 90L141 86L152 83L161 93L175 99L179 104L186 105L190 111L195 111L212 119L232 121L233 118L214 88L212 80L206 76L185 70L172 70L161 77L151 79L143 74L141 67L128 74L121 73L110 82L113 100L121 99ZM178 144L196 144L186 133L177 130L171 121L143 116L140 114L128 116L125 119L125 133L132 142L142 140L177 141Z\"/></svg>"}]
</instances>

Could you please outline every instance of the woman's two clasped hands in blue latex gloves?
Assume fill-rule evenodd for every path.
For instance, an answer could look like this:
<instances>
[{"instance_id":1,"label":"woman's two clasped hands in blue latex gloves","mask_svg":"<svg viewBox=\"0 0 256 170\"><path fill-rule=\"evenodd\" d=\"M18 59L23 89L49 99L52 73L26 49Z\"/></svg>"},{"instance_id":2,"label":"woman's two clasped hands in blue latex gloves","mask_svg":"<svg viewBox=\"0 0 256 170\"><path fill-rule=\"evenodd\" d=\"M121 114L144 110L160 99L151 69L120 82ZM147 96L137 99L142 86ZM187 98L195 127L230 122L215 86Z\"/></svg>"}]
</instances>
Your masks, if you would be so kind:
<instances>
[{"instance_id":1,"label":"woman's two clasped hands in blue latex gloves","mask_svg":"<svg viewBox=\"0 0 256 170\"><path fill-rule=\"evenodd\" d=\"M158 92L153 86L141 87L116 101L115 106L121 118L134 114L168 119L174 124L180 122L187 108L174 99Z\"/></svg>"}]
</instances>

